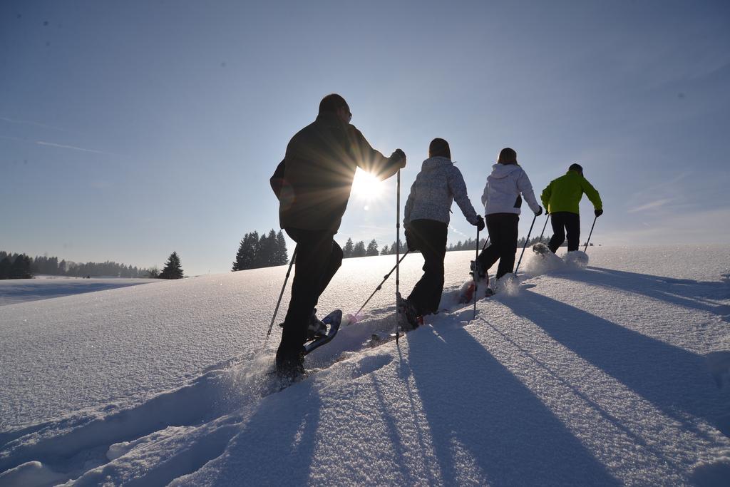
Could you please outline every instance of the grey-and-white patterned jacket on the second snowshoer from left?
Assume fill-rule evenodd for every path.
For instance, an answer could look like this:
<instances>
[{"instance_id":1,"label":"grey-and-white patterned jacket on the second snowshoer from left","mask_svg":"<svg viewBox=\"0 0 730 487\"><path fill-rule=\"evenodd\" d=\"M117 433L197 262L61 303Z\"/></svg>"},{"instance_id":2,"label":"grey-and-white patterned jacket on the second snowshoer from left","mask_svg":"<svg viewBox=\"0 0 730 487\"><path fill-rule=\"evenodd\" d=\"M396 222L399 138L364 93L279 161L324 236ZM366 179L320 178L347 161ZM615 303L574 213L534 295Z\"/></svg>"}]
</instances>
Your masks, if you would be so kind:
<instances>
[{"instance_id":1,"label":"grey-and-white patterned jacket on the second snowshoer from left","mask_svg":"<svg viewBox=\"0 0 730 487\"><path fill-rule=\"evenodd\" d=\"M446 157L431 157L423 161L418 176L411 186L406 202L403 223L413 220L435 220L449 223L451 204L461 208L464 217L472 225L477 224L477 212L466 194L466 184L461 171Z\"/></svg>"}]
</instances>

